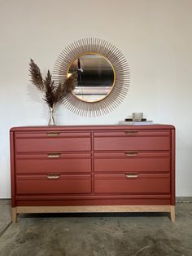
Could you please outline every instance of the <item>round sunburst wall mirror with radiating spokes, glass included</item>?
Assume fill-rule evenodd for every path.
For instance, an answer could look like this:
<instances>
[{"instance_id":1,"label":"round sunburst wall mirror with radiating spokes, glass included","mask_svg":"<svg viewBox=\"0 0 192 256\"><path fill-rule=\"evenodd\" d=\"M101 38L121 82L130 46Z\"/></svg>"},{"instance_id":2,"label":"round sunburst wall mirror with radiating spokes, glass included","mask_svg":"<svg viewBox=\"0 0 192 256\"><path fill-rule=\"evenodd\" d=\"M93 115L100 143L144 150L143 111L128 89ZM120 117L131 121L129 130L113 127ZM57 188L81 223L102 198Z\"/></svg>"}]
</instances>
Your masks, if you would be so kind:
<instances>
[{"instance_id":1,"label":"round sunburst wall mirror with radiating spokes, glass included","mask_svg":"<svg viewBox=\"0 0 192 256\"><path fill-rule=\"evenodd\" d=\"M72 73L77 83L63 104L85 117L98 117L116 108L129 89L129 65L111 43L85 38L66 47L56 60L53 78L56 84Z\"/></svg>"}]
</instances>

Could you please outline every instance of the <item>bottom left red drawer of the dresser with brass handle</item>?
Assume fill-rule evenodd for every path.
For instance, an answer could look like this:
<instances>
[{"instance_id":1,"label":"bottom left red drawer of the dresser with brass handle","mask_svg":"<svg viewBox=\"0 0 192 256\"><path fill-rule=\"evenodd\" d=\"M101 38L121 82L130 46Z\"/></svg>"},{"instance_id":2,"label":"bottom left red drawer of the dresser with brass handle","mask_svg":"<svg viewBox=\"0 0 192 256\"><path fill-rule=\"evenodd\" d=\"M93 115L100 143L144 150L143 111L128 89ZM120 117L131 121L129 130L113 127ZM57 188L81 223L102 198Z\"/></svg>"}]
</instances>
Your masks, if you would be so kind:
<instances>
[{"instance_id":1,"label":"bottom left red drawer of the dresser with brass handle","mask_svg":"<svg viewBox=\"0 0 192 256\"><path fill-rule=\"evenodd\" d=\"M51 178L52 177L52 178ZM55 177L55 178L53 178ZM59 178L58 178L59 177ZM50 179L51 178L51 179ZM90 175L17 175L17 195L85 194L91 192Z\"/></svg>"}]
</instances>

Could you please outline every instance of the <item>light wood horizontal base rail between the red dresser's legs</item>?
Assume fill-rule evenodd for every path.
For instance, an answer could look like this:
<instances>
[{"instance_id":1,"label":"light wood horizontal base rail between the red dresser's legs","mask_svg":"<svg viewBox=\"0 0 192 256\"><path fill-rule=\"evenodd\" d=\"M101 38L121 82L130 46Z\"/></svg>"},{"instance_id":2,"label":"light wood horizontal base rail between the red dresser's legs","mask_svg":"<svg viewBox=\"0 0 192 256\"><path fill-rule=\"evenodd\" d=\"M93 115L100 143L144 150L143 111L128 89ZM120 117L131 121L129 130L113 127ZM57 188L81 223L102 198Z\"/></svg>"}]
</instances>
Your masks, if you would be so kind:
<instances>
[{"instance_id":1,"label":"light wood horizontal base rail between the red dresser's legs","mask_svg":"<svg viewBox=\"0 0 192 256\"><path fill-rule=\"evenodd\" d=\"M27 213L170 212L170 205L18 206Z\"/></svg>"}]
</instances>

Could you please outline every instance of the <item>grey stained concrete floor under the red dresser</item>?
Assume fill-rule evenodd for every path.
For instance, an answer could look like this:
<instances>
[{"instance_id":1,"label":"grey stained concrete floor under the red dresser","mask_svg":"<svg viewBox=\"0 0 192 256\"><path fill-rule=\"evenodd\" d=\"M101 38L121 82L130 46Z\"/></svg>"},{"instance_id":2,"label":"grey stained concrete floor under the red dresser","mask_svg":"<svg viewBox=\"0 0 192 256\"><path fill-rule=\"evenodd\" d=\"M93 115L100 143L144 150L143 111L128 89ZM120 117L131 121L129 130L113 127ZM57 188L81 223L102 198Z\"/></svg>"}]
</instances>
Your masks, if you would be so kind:
<instances>
[{"instance_id":1,"label":"grey stained concrete floor under the red dresser","mask_svg":"<svg viewBox=\"0 0 192 256\"><path fill-rule=\"evenodd\" d=\"M168 214L20 214L0 205L1 256L192 255L192 204Z\"/></svg>"}]
</instances>

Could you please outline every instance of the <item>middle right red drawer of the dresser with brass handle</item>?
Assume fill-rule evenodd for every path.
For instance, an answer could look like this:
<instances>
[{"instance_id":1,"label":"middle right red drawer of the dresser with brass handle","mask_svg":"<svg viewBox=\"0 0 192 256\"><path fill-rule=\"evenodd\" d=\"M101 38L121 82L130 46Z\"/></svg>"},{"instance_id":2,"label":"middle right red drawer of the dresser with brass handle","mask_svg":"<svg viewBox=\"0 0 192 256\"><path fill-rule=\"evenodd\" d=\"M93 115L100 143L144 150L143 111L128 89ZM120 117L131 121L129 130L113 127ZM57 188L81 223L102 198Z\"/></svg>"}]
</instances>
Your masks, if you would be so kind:
<instances>
[{"instance_id":1,"label":"middle right red drawer of the dresser with brass handle","mask_svg":"<svg viewBox=\"0 0 192 256\"><path fill-rule=\"evenodd\" d=\"M95 172L169 172L169 152L95 153Z\"/></svg>"}]
</instances>

